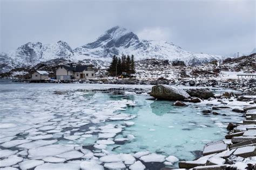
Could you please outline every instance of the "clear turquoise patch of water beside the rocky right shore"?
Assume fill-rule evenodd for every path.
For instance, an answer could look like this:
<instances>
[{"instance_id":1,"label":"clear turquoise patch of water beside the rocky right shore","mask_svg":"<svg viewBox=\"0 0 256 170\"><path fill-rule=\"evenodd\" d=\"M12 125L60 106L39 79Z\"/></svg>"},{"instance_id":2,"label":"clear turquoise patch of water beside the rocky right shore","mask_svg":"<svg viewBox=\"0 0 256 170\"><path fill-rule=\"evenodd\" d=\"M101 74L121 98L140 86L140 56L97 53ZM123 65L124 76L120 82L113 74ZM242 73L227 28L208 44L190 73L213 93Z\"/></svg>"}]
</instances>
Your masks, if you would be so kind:
<instances>
[{"instance_id":1,"label":"clear turquoise patch of water beside the rocky right shore","mask_svg":"<svg viewBox=\"0 0 256 170\"><path fill-rule=\"evenodd\" d=\"M222 115L202 115L201 111L211 106L192 104L188 107L175 107L171 101L149 100L148 95L109 95L97 93L97 103L109 100L128 99L136 102L135 107L127 107L124 112L137 117L130 120L135 124L126 128L119 137L133 134L132 142L120 145L117 153L132 153L148 150L151 152L176 155L180 160L193 160L194 151L203 151L206 143L224 139L226 125L242 118L230 111L222 110ZM231 117L232 116L232 117ZM113 124L113 122L111 122ZM116 121L122 124L122 121Z\"/></svg>"}]
</instances>

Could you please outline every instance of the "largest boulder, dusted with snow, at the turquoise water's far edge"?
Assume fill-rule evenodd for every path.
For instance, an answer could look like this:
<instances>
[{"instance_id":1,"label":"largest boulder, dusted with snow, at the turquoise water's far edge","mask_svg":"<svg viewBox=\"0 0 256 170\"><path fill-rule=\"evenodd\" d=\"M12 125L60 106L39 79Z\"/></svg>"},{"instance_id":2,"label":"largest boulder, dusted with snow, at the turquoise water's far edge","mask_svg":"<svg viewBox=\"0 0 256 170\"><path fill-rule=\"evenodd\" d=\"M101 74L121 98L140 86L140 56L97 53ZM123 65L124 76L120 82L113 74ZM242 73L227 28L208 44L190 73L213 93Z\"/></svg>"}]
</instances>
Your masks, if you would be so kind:
<instances>
[{"instance_id":1,"label":"largest boulder, dusted with snow, at the turquoise water's far edge","mask_svg":"<svg viewBox=\"0 0 256 170\"><path fill-rule=\"evenodd\" d=\"M182 101L190 95L186 93L183 89L179 89L176 87L171 87L168 85L156 85L152 87L150 96L153 96L162 100L170 100L170 101Z\"/></svg>"}]
</instances>

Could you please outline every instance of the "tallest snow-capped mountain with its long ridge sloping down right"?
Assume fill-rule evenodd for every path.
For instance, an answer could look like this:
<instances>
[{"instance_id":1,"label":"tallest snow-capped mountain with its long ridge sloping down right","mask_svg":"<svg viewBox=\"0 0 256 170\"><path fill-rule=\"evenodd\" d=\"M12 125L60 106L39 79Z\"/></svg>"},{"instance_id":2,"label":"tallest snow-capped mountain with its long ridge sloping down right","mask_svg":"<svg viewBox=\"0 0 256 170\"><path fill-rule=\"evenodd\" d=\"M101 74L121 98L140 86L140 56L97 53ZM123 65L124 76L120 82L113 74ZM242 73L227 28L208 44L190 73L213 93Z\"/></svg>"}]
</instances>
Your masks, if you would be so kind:
<instances>
[{"instance_id":1,"label":"tallest snow-capped mountain with its long ridge sloping down right","mask_svg":"<svg viewBox=\"0 0 256 170\"><path fill-rule=\"evenodd\" d=\"M157 58L183 60L187 64L204 63L225 58L220 55L185 51L172 42L139 40L138 36L119 26L107 30L96 41L74 49L79 55L92 58L111 58L112 55L133 54L136 60Z\"/></svg>"}]
</instances>

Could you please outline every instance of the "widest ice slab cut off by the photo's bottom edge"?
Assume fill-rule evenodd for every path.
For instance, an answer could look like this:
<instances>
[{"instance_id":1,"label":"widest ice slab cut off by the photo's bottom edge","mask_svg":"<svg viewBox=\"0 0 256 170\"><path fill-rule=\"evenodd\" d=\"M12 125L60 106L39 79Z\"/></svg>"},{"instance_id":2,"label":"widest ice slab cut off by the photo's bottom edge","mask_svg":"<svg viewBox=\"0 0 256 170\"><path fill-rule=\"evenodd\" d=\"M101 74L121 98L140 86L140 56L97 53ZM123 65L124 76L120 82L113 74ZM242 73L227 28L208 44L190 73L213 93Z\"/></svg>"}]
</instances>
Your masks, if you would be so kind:
<instances>
[{"instance_id":1,"label":"widest ice slab cut off by the photo's bottom edge","mask_svg":"<svg viewBox=\"0 0 256 170\"><path fill-rule=\"evenodd\" d=\"M80 165L79 164L72 164L72 163L58 163L58 164L52 164L52 163L45 163L43 165L39 165L35 168L35 170L79 170Z\"/></svg>"}]
</instances>

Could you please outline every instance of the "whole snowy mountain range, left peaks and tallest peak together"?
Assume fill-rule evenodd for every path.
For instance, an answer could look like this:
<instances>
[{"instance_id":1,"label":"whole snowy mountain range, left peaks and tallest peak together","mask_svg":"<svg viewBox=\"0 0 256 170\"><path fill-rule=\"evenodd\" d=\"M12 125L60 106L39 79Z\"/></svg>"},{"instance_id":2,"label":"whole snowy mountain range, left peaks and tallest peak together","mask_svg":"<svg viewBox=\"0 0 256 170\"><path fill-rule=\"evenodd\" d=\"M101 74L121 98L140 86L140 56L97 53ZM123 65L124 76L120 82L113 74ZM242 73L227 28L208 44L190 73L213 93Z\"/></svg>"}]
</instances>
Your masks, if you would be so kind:
<instances>
[{"instance_id":1,"label":"whole snowy mountain range, left peaks and tallest peak together","mask_svg":"<svg viewBox=\"0 0 256 170\"><path fill-rule=\"evenodd\" d=\"M41 42L28 42L14 51L0 53L0 72L58 58L70 61L85 59L110 61L114 54L133 54L136 60L150 58L182 60L188 65L226 58L221 55L188 52L172 42L140 40L133 32L115 26L96 41L75 49L64 41L45 45Z\"/></svg>"}]
</instances>

